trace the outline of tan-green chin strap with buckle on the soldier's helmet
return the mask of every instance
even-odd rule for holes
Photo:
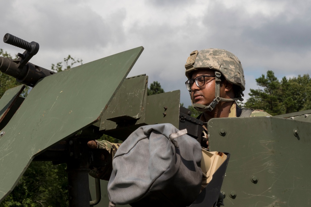
[[[230,101],[239,100],[239,98],[221,98],[220,97],[220,82],[221,82],[220,76],[221,76],[221,73],[218,71],[215,71],[215,98],[214,100],[208,106],[205,106],[203,104],[192,104],[195,110],[200,111],[200,112],[212,111],[213,109],[215,109],[216,105],[219,102],[230,102]]]

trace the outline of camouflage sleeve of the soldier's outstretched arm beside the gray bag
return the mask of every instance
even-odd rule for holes
[[[111,172],[112,172],[112,160],[114,159],[114,155],[116,154],[117,149],[119,148],[121,144],[111,143],[106,140],[102,140],[102,141],[95,140],[95,142],[97,143],[97,148],[106,149],[110,153],[111,160],[109,164],[106,166],[98,167],[98,168],[94,167],[93,169],[91,169],[89,174],[93,178],[109,180]]]

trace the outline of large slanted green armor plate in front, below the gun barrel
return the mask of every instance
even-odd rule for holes
[[[36,84],[0,137],[0,202],[35,155],[99,120],[142,50],[108,56]]]

